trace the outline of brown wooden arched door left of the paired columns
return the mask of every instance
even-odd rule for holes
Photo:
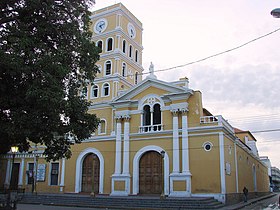
[[[99,193],[100,161],[96,154],[88,154],[82,167],[82,192]]]

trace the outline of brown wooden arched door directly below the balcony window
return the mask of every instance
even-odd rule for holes
[[[139,163],[139,193],[161,194],[163,189],[163,159],[158,152],[146,152]]]

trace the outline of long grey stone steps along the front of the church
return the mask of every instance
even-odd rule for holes
[[[166,198],[155,197],[90,197],[85,195],[67,194],[26,194],[20,203],[80,206],[99,208],[122,208],[122,209],[218,209],[224,205],[214,198]]]

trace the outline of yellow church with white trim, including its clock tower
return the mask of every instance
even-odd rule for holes
[[[25,192],[106,196],[214,197],[226,203],[269,192],[256,139],[202,104],[189,79],[158,80],[151,63],[143,79],[142,23],[121,3],[92,13],[92,41],[102,50],[100,73],[83,91],[98,129],[72,157],[46,162],[44,146],[1,158],[0,184]],[[13,167],[13,174],[11,174]],[[36,179],[34,180],[33,177]],[[35,184],[34,184],[35,183]]]

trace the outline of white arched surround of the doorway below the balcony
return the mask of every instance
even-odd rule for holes
[[[139,162],[142,155],[148,151],[156,151],[160,153],[165,150],[159,146],[150,145],[141,148],[135,154],[133,158],[133,195],[137,195],[139,193]],[[164,194],[169,195],[169,156],[166,151],[164,155]]]

